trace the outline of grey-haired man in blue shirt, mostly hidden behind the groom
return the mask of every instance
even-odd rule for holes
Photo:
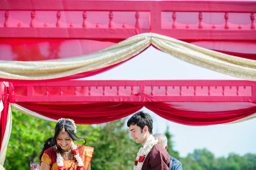
[[[158,139],[158,144],[167,150],[168,148],[167,137],[162,133],[155,133],[153,136],[155,137],[155,139]],[[182,170],[181,162],[178,159],[172,157],[171,155],[170,157],[171,157],[170,170]]]

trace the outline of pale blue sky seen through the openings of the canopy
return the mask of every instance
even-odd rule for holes
[[[131,69],[132,68],[132,69]],[[171,73],[171,74],[170,74]],[[128,62],[83,80],[242,80],[201,68],[149,47]],[[256,154],[256,119],[236,124],[187,126],[165,120],[143,108],[153,117],[153,133],[164,133],[169,126],[174,149],[185,157],[194,149],[207,148],[216,157],[233,152]],[[128,116],[130,117],[130,116]]]

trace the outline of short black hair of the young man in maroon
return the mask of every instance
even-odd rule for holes
[[[127,126],[130,127],[130,125],[137,125],[142,129],[144,126],[148,127],[148,131],[150,134],[152,134],[152,129],[153,129],[153,120],[149,116],[149,114],[144,113],[143,111],[138,111],[132,117],[128,120]]]

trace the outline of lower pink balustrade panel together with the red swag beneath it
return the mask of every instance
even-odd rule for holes
[[[10,83],[9,100],[40,115],[95,124],[143,106],[186,125],[228,123],[256,112],[254,81],[63,81]]]

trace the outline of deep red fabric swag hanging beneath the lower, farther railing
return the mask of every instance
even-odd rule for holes
[[[162,102],[19,102],[17,104],[52,119],[67,117],[78,124],[97,124],[117,120],[135,113],[143,106],[167,120],[196,126],[228,123],[256,112],[256,106],[226,111],[189,111]]]

